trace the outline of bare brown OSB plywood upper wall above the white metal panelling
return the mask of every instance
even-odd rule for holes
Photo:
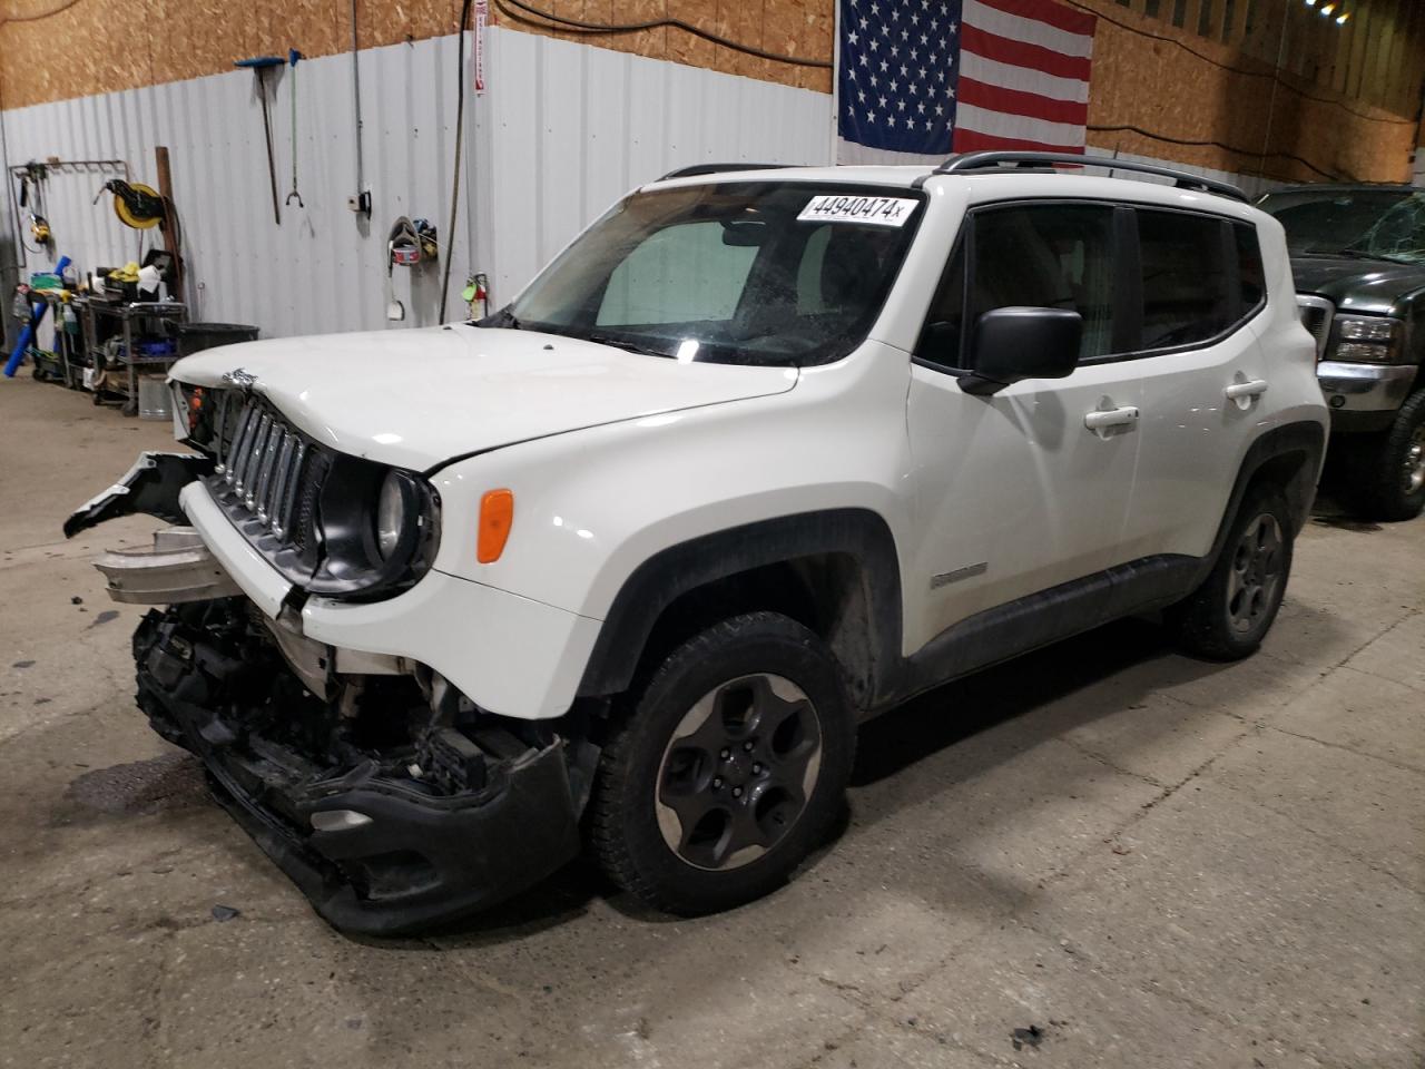
[[[1416,114],[1292,76],[1277,78],[1270,64],[1240,48],[1117,0],[1072,3],[1103,16],[1092,144],[1291,181],[1408,177]],[[47,11],[56,13],[36,17]],[[361,47],[452,33],[459,11],[459,0],[358,0]],[[537,11],[587,26],[554,29]],[[0,26],[6,108],[211,74],[229,70],[235,58],[289,47],[325,56],[351,44],[349,0],[0,0],[0,14],[7,16]],[[490,0],[490,19],[694,67],[831,88],[834,0]],[[593,29],[650,23],[617,33]]]

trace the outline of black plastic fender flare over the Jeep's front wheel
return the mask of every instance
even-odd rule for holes
[[[869,509],[826,509],[712,532],[654,553],[624,580],[598,630],[579,684],[580,697],[627,690],[663,611],[698,587],[799,557],[849,557],[861,577],[866,633],[861,666],[871,701],[901,663],[901,564],[885,519]]]

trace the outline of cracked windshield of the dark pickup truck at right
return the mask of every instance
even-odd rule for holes
[[[1357,254],[1425,262],[1425,194],[1411,190],[1324,190],[1268,194],[1260,202],[1287,229],[1294,254]]]

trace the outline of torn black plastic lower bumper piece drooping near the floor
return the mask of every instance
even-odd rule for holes
[[[188,700],[222,654],[161,620],[151,613],[135,634],[140,707],[202,760],[217,800],[333,926],[402,935],[449,924],[579,852],[563,743],[492,760],[479,785],[453,794],[375,760],[323,773],[258,735],[241,707]]]

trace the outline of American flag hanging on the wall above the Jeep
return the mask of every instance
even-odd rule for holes
[[[1053,0],[838,0],[842,162],[1083,148],[1094,17]]]

